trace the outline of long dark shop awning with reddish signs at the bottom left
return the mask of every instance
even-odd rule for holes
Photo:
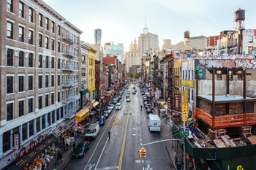
[[[23,157],[20,157],[16,159],[13,163],[10,163],[10,166],[4,167],[4,170],[18,170],[23,169],[24,166],[26,166],[28,163],[34,160],[34,158],[37,157],[41,152],[45,150],[50,144],[52,144],[55,141],[56,137],[53,134],[50,134],[48,138],[43,140],[40,144],[37,144],[36,147],[34,147],[32,150],[29,150],[29,152],[26,153],[26,155],[23,155]]]

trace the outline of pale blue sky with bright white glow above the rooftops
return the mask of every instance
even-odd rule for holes
[[[94,29],[102,29],[105,42],[123,43],[124,50],[143,33],[143,27],[172,44],[190,36],[214,36],[232,30],[234,12],[246,10],[245,28],[256,28],[255,0],[44,0],[83,31],[81,40],[94,43]]]

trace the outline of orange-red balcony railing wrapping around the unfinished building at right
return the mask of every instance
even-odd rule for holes
[[[256,124],[256,113],[222,115],[213,117],[209,113],[204,112],[202,109],[197,108],[195,116],[206,122],[212,128],[228,128]]]

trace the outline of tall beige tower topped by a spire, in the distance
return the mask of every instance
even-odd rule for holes
[[[140,54],[147,54],[149,50],[151,52],[157,52],[159,50],[159,41],[157,34],[151,34],[148,32],[148,28],[143,28],[143,34],[139,37]]]

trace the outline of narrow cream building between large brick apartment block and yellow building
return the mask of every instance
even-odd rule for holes
[[[80,42],[80,108],[89,101],[89,51],[91,48],[85,42]]]

